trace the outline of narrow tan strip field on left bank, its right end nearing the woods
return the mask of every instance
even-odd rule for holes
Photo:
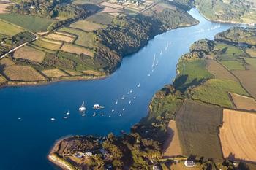
[[[88,50],[84,47],[79,47],[79,46],[76,46],[76,45],[70,45],[70,44],[64,44],[62,47],[61,47],[61,50],[65,51],[65,52],[68,52],[68,53],[75,53],[75,54],[84,54],[84,55],[89,55],[91,57],[93,57],[93,53],[91,52],[91,50]]]

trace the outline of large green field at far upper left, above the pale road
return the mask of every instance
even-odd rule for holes
[[[40,18],[32,15],[20,15],[16,13],[0,14],[0,19],[14,23],[17,26],[34,32],[46,31],[48,26],[54,22],[54,20],[48,18]]]

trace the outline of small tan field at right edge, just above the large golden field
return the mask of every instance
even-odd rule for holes
[[[236,106],[236,109],[246,109],[246,110],[256,111],[256,101],[254,98],[241,96],[236,93],[230,93],[230,96],[233,100],[233,103]]]

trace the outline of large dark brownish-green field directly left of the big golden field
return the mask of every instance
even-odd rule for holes
[[[178,137],[183,155],[213,158],[222,161],[218,127],[222,123],[222,108],[185,100],[176,115]]]

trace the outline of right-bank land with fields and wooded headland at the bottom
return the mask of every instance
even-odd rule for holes
[[[255,169],[255,36],[230,28],[195,42],[129,134],[72,136],[49,156],[70,169]]]

